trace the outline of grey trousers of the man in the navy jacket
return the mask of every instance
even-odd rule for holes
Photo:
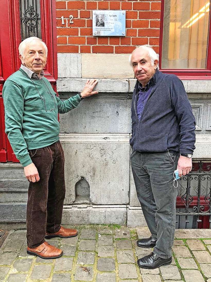
[[[138,199],[153,239],[154,253],[170,258],[174,243],[176,197],[173,173],[178,157],[170,152],[139,153],[132,150],[131,168]]]

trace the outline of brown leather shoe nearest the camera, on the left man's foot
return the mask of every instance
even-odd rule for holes
[[[26,252],[28,255],[38,255],[42,259],[57,259],[63,252],[54,246],[51,246],[47,242],[42,243],[36,248],[27,247]]]

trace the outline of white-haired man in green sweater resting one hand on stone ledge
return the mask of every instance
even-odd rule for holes
[[[61,226],[65,197],[64,151],[59,141],[58,113],[67,113],[80,101],[97,94],[97,80],[87,80],[83,91],[61,101],[44,78],[48,49],[36,37],[19,45],[20,69],[3,87],[5,132],[29,181],[26,211],[27,253],[57,258],[62,250],[45,238],[69,238],[77,230]]]

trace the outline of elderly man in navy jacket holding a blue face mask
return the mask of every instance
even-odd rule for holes
[[[195,118],[182,81],[163,74],[151,47],[133,51],[130,62],[137,79],[132,98],[131,167],[138,199],[151,237],[137,241],[153,252],[138,260],[154,269],[172,262],[179,177],[192,169]]]

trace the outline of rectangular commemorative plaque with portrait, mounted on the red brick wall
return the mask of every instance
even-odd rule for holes
[[[125,36],[125,15],[124,10],[94,10],[93,36]]]

